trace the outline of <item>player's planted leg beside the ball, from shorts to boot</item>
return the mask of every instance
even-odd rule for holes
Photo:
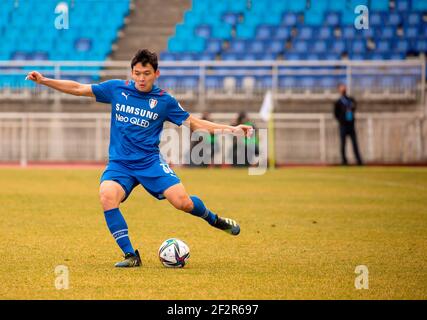
[[[141,265],[138,250],[134,250],[129,238],[128,226],[119,206],[135,185],[132,177],[123,172],[105,170],[99,187],[99,199],[104,210],[105,221],[117,245],[123,251],[125,260],[116,267],[136,267]]]

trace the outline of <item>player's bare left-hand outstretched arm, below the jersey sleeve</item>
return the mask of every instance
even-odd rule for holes
[[[50,79],[44,77],[37,71],[31,71],[28,73],[26,79],[75,96],[95,97],[90,84],[81,84],[71,80]]]

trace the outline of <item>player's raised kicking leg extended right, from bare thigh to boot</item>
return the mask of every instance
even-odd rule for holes
[[[240,226],[229,218],[221,218],[206,208],[203,201],[197,196],[189,196],[182,183],[167,188],[163,195],[178,210],[191,213],[206,220],[211,226],[221,229],[229,234],[238,235]]]

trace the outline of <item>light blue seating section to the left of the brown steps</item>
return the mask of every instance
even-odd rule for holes
[[[129,13],[129,0],[121,1],[61,1],[68,4],[72,28],[59,29],[46,25],[55,22],[58,1],[15,1],[1,3],[0,60],[10,61],[103,61],[112,52],[117,32]],[[104,23],[113,10],[114,16]],[[25,69],[25,67],[24,67]],[[65,70],[75,69],[64,67]],[[82,69],[81,67],[79,68]],[[97,71],[99,67],[83,67]],[[44,68],[53,72],[53,68]],[[99,81],[98,74],[69,76],[69,79],[89,83]],[[21,74],[1,75],[1,87],[33,87]]]

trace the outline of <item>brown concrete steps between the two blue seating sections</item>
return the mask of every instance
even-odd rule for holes
[[[182,20],[191,0],[135,0],[133,9],[113,53],[112,60],[130,60],[140,48],[160,53],[167,47],[175,25]]]

